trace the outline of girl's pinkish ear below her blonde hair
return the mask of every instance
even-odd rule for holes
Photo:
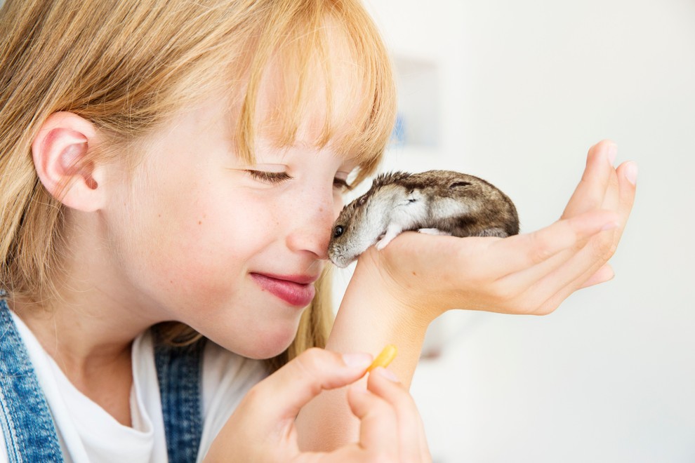
[[[97,145],[93,124],[70,112],[56,112],[32,143],[34,167],[49,193],[69,208],[93,212],[104,204],[98,168],[86,162]]]

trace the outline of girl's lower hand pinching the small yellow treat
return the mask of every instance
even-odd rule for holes
[[[364,375],[368,354],[309,349],[256,384],[220,431],[206,462],[428,462],[420,416],[408,392],[377,368],[367,388],[352,387],[348,403],[360,421],[359,442],[333,452],[301,452],[295,418],[324,389]],[[313,424],[323,429],[322,423]]]

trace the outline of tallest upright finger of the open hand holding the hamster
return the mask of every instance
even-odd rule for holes
[[[613,161],[616,152],[617,147],[610,140],[603,140],[589,149],[581,181],[569,199],[562,218],[601,207],[609,176],[614,172]]]

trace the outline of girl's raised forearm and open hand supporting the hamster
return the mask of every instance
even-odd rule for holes
[[[615,156],[609,140],[591,147],[562,217],[538,231],[506,239],[409,232],[383,250],[370,248],[357,262],[327,348],[376,354],[396,344],[390,369],[409,385],[425,331],[444,311],[549,314],[574,291],[609,281],[607,261],[628,220],[637,177],[634,163],[614,168]],[[323,394],[305,408],[313,421],[324,414],[326,434],[334,437],[307,438],[307,448],[331,448],[355,436],[354,422],[352,431],[343,427],[351,418],[338,394]]]

